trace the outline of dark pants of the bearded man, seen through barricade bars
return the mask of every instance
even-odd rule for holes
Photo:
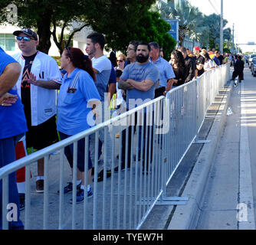
[[[149,116],[149,115],[148,115]],[[153,119],[153,116],[152,116]],[[128,167],[130,167],[131,162],[131,149],[133,147],[132,142],[132,131],[136,132],[136,125],[138,123],[137,120],[137,113],[135,115],[135,125],[129,126],[126,130],[128,130],[128,158],[127,163]],[[140,120],[141,121],[141,120]],[[141,122],[139,122],[141,124]],[[133,130],[132,130],[133,127]],[[126,156],[126,130],[122,131],[122,168],[125,166],[125,156]],[[147,142],[146,142],[146,130],[147,130]],[[150,132],[151,131],[151,132]],[[142,139],[142,132],[143,132],[143,139]],[[150,140],[150,133],[151,133],[151,140]],[[145,159],[147,159],[146,164],[148,165],[149,162],[153,160],[153,123],[150,123],[149,126],[146,125],[146,113],[144,113],[144,123],[143,126],[139,126],[139,132],[137,132],[137,140],[139,140],[139,158],[141,154],[141,150],[143,150],[143,165],[145,164]],[[149,150],[150,147],[150,150]],[[150,159],[149,159],[149,152],[150,152]]]

